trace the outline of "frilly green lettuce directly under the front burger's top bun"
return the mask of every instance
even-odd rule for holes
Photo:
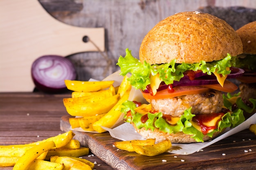
[[[148,64],[144,61],[141,63],[137,58],[133,57],[131,51],[126,49],[126,56],[120,56],[117,65],[120,67],[120,75],[126,75],[131,73],[130,84],[136,89],[145,90],[146,86],[150,84],[150,74],[156,75],[159,73],[159,78],[165,82],[165,84],[173,84],[173,81],[180,81],[184,77],[184,72],[188,70],[198,71],[202,70],[203,73],[211,75],[218,69],[217,73],[223,76],[229,74],[231,71],[227,71],[227,67],[235,66],[236,57],[231,57],[227,54],[222,60],[193,64],[177,64],[176,60],[172,60],[170,63],[164,64]]]

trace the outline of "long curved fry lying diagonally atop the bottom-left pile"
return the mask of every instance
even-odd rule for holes
[[[33,146],[22,155],[13,166],[13,170],[26,170],[31,162],[47,150],[54,148],[54,141],[45,141]]]

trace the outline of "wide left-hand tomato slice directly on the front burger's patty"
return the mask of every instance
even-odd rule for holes
[[[200,94],[209,91],[209,88],[204,86],[176,86],[173,87],[173,89],[173,93],[168,93],[167,89],[165,89],[162,91],[158,91],[154,96],[150,95],[150,93],[144,92],[142,92],[142,95],[145,99],[166,99],[182,95]]]

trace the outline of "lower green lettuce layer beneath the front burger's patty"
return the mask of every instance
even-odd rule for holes
[[[188,135],[192,135],[191,137],[195,139],[197,142],[204,142],[203,137],[204,135],[202,132],[194,128],[190,121],[192,121],[192,118],[195,116],[191,113],[191,108],[184,110],[184,115],[180,117],[180,119],[177,121],[176,125],[170,125],[163,119],[163,114],[161,112],[159,113],[148,113],[148,120],[145,123],[141,122],[141,117],[143,116],[140,113],[137,113],[134,109],[136,108],[136,105],[131,101],[126,101],[123,103],[124,107],[121,109],[121,112],[126,113],[129,110],[131,111],[132,117],[127,117],[125,114],[124,120],[129,123],[135,124],[137,128],[146,128],[146,130],[154,130],[155,128],[158,128],[159,130],[163,132],[168,133],[177,133],[177,132],[183,132]],[[243,121],[245,121],[245,117],[243,115],[243,111],[238,109],[236,112],[230,114],[226,113],[222,120],[218,123],[218,128],[213,130],[212,132],[207,133],[209,137],[213,136],[213,133],[222,131],[225,128],[234,128],[235,126],[241,124]]]

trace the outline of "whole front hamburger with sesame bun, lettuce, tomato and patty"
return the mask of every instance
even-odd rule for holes
[[[243,53],[236,31],[207,14],[182,12],[151,29],[139,49],[139,60],[126,49],[119,57],[120,75],[130,73],[130,84],[148,103],[124,102],[124,121],[144,138],[157,142],[203,142],[245,120],[243,111],[223,108],[222,92],[238,87],[228,78],[243,70],[234,67]]]

